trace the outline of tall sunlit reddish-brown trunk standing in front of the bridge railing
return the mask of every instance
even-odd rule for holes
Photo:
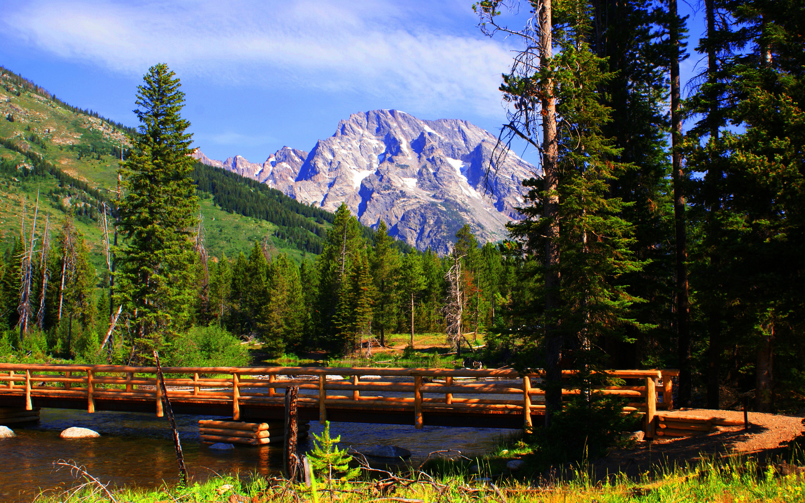
[[[553,56],[553,15],[551,0],[544,0],[539,11],[539,53],[540,66],[551,67]],[[555,320],[559,308],[559,150],[556,144],[556,99],[553,95],[553,80],[542,83],[543,113],[543,216],[547,219],[545,242],[545,311],[548,317],[545,330],[545,426],[550,426],[551,415],[562,410],[562,371],[559,360],[562,357],[562,336]]]

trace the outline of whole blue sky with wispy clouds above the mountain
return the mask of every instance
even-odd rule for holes
[[[472,3],[3,0],[0,64],[136,126],[142,74],[167,63],[182,80],[195,144],[213,159],[309,150],[339,120],[370,109],[497,133],[506,117],[497,85],[518,46],[482,35]],[[695,47],[703,14],[691,5],[680,9],[693,14]],[[683,79],[697,60],[683,64]]]

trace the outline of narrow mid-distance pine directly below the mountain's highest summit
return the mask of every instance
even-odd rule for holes
[[[394,324],[397,316],[397,284],[399,274],[399,254],[392,248],[394,238],[390,237],[386,222],[380,221],[374,235],[374,247],[369,261],[376,298],[374,299],[374,318],[372,324],[380,332],[380,345],[386,346],[386,330]]]

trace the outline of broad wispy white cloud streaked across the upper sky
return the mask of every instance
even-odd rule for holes
[[[500,116],[509,47],[473,28],[469,4],[456,5],[34,1],[6,4],[0,31],[124,74],[163,61],[183,76],[393,97],[419,113]],[[455,21],[428,24],[429,8],[452,9],[434,19]]]

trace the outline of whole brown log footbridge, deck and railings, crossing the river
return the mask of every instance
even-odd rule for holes
[[[154,412],[163,414],[155,367],[0,364],[0,407]],[[280,419],[284,389],[299,386],[299,418],[351,423],[520,428],[545,414],[539,372],[512,369],[390,369],[334,367],[163,367],[176,414]],[[564,371],[570,377],[572,371]],[[630,381],[592,390],[627,397],[624,410],[673,408],[677,370],[611,370]],[[658,387],[659,386],[659,387]],[[578,394],[578,390],[563,390]]]

